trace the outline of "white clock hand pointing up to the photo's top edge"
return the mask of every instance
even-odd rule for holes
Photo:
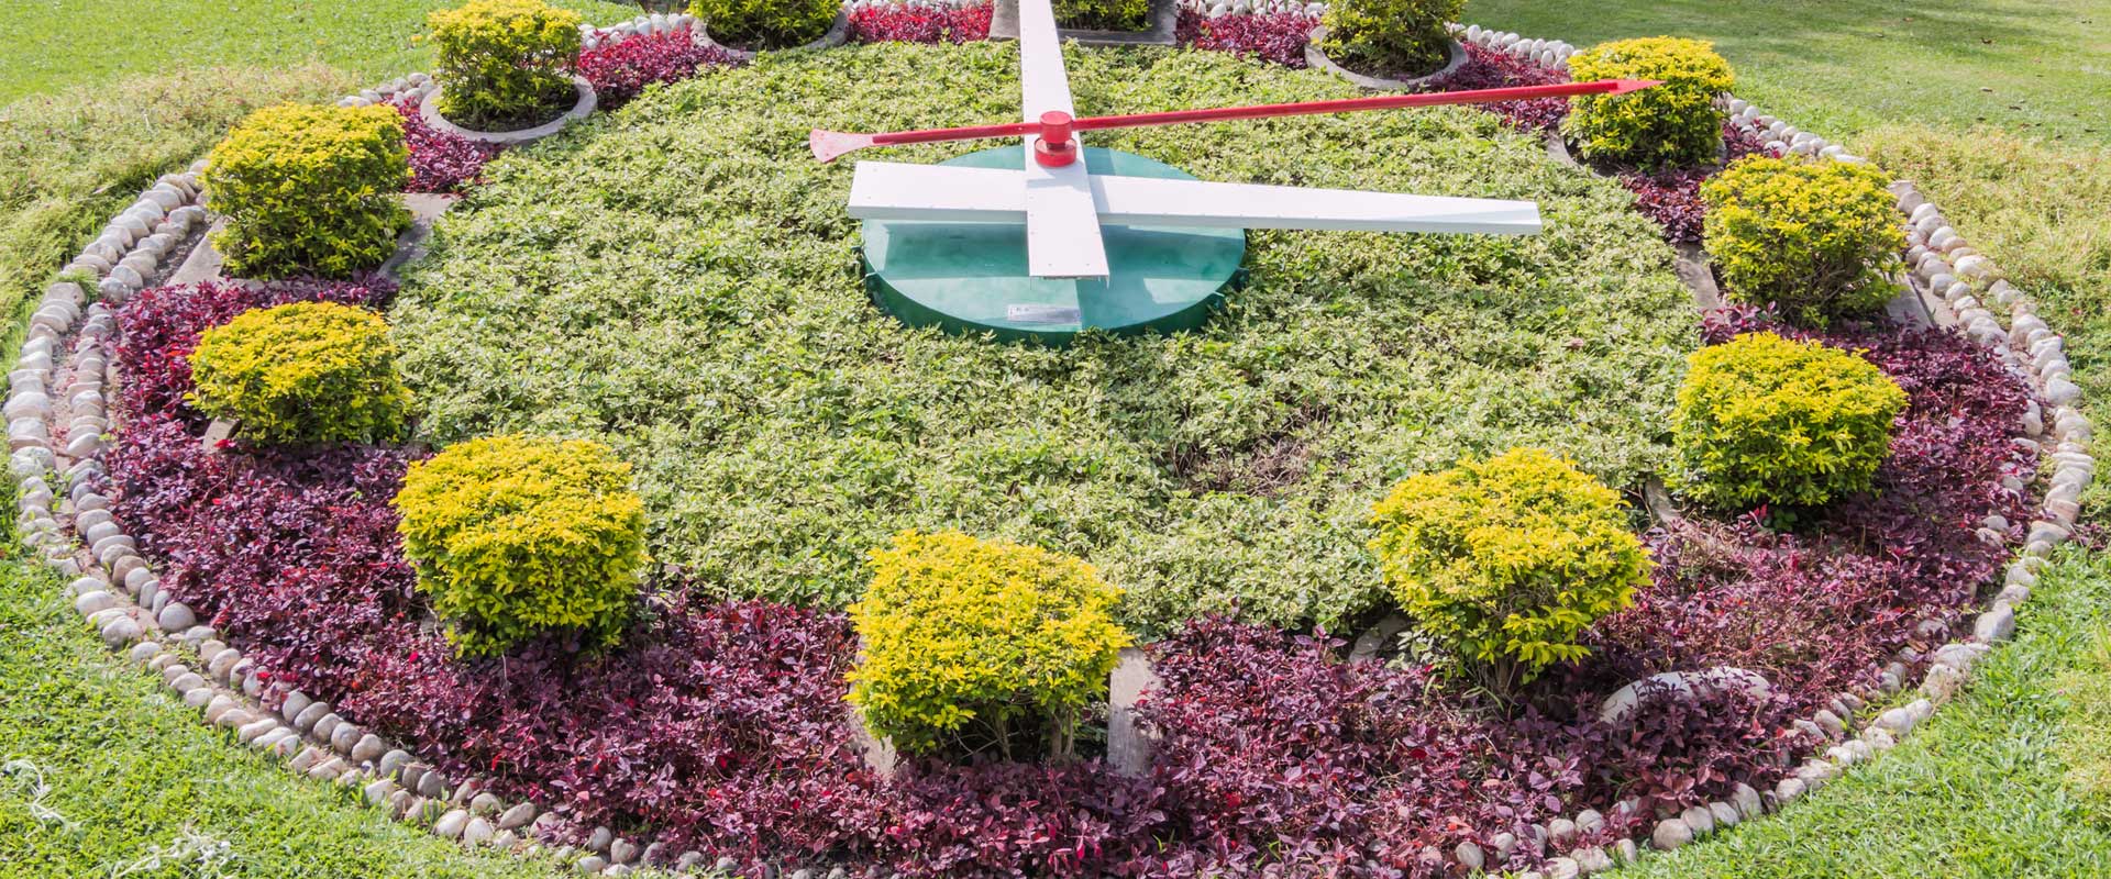
[[[1039,122],[1051,110],[1077,116],[1049,0],[1020,0],[1020,93],[1026,122]],[[1049,169],[1034,162],[1039,141],[1026,137],[1020,152],[1026,162],[1026,270],[1041,278],[1104,278],[1106,245],[1091,204],[1085,148],[1079,143],[1077,162]]]

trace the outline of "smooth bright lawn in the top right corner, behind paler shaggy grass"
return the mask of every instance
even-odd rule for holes
[[[1923,120],[2111,143],[2103,0],[1469,0],[1463,19],[1579,46],[1714,40],[1742,97],[1828,139]]]

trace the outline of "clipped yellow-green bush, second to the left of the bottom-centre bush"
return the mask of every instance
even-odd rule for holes
[[[296,301],[207,329],[190,354],[190,403],[258,443],[384,443],[403,436],[410,390],[388,323],[363,308]]]

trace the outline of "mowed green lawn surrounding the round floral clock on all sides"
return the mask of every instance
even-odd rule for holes
[[[156,173],[260,103],[420,70],[448,0],[17,0],[0,25],[0,314]],[[589,21],[635,6],[574,2]],[[2111,350],[2111,4],[2103,0],[1471,2],[1467,21],[1590,44],[1716,40],[1739,93],[1910,175],[2073,331]],[[211,70],[205,67],[224,67]],[[1915,124],[1902,124],[1915,122]],[[1989,150],[1970,129],[2003,133]],[[6,339],[19,339],[8,327]],[[13,344],[6,344],[13,352]],[[11,489],[0,489],[0,500]],[[2103,497],[2098,489],[2092,497]],[[2098,516],[2100,502],[2092,504]],[[1997,651],[1906,744],[1782,816],[1628,875],[2111,875],[2111,561],[2071,552]],[[2107,687],[2094,687],[2107,689]],[[201,727],[103,651],[63,584],[0,561],[0,877],[543,875],[464,856]]]

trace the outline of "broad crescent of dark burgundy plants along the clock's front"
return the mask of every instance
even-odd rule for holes
[[[1659,559],[1594,656],[1514,712],[1435,668],[1345,664],[1324,634],[1197,620],[1155,647],[1165,685],[1142,706],[1163,742],[1150,778],[1066,767],[908,763],[893,780],[849,746],[840,613],[703,603],[661,575],[648,613],[602,658],[562,641],[456,662],[429,620],[388,500],[418,451],[201,447],[184,405],[196,335],[296,299],[380,306],[380,282],[152,289],[120,310],[116,516],[163,586],[274,683],[412,748],[450,778],[553,807],[568,833],[650,828],[676,849],[745,864],[842,862],[885,875],[1438,875],[1461,841],[1526,841],[1596,807],[1596,837],[1655,809],[1765,788],[1815,742],[1790,721],[1929,649],[1970,616],[2005,548],[1986,514],[2024,521],[2008,443],[2027,386],[1946,331],[1845,327],[1910,394],[1879,489],[1803,521],[1752,510],[1647,535]],[[1737,310],[1708,341],[1777,329]],[[1773,529],[1763,527],[1761,523]],[[2012,531],[2010,538],[2016,538]],[[1611,689],[1661,670],[1737,666],[1767,698],[1647,700],[1606,725]],[[1634,805],[1615,809],[1632,799]]]

